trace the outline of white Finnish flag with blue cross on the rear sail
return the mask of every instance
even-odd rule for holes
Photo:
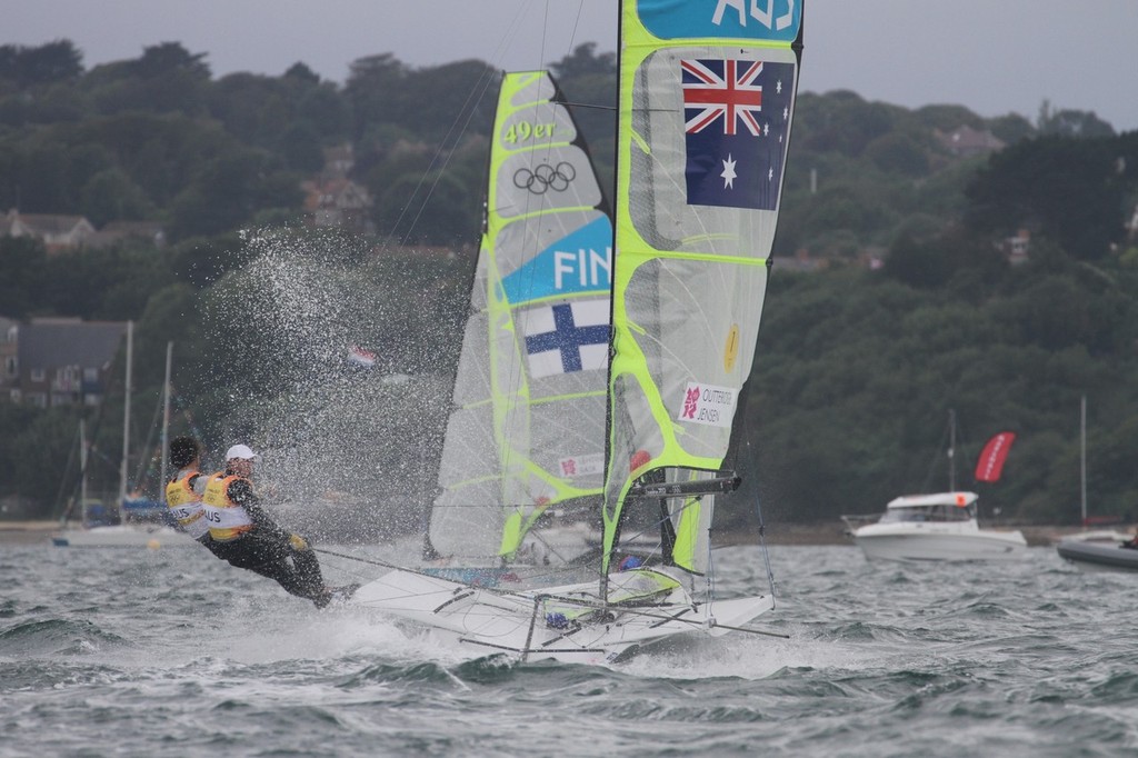
[[[609,299],[528,308],[521,315],[529,376],[589,371],[609,365]]]

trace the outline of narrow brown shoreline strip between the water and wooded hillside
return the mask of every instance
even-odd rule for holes
[[[38,542],[50,543],[52,533],[65,525],[58,521],[0,521],[0,544],[31,545]],[[67,525],[73,526],[73,525]],[[992,527],[1000,530],[1019,529],[1028,541],[1028,546],[1050,546],[1063,537],[1085,532],[1079,526],[1007,526]],[[1133,528],[1118,525],[1116,532],[1130,534]],[[764,541],[768,545],[853,545],[847,534],[846,525],[832,521],[817,524],[767,524]],[[716,539],[716,544],[747,544],[756,539]]]

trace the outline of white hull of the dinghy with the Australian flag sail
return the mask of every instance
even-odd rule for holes
[[[610,596],[661,576],[673,578],[662,570],[613,574]],[[696,604],[682,587],[673,587],[635,604],[597,610],[596,582],[501,592],[405,570],[364,585],[351,603],[412,621],[487,654],[577,664],[615,662],[678,634],[718,636],[774,607],[767,595]]]

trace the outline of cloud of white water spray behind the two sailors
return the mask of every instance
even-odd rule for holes
[[[341,233],[245,236],[204,303],[217,447],[247,442],[289,525],[338,542],[414,532],[434,499],[464,263]],[[376,354],[362,368],[354,346]]]

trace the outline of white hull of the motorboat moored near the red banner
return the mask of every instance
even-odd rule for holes
[[[1019,560],[1028,542],[1020,532],[980,529],[964,524],[874,524],[853,533],[871,560],[992,561]]]

